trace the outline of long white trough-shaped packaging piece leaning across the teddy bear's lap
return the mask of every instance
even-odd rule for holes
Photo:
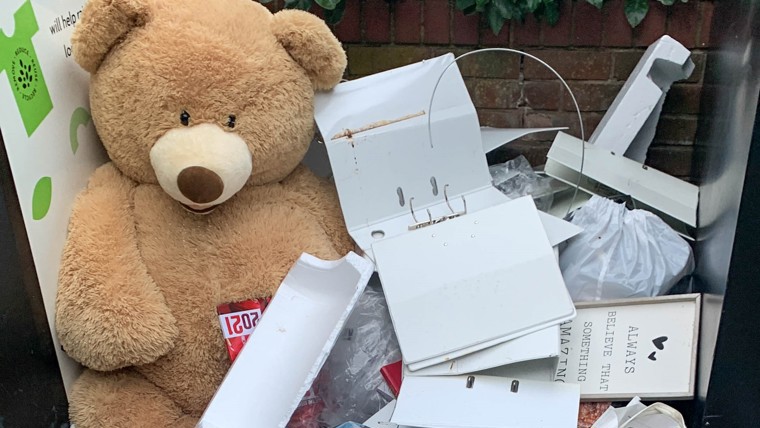
[[[354,253],[337,261],[303,254],[197,426],[285,427],[372,272],[372,264]]]

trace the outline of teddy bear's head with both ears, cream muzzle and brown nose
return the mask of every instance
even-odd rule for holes
[[[72,43],[113,163],[199,213],[291,173],[346,66],[319,18],[252,0],[91,0]]]

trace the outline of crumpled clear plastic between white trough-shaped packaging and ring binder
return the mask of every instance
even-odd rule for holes
[[[401,359],[388,305],[377,276],[356,303],[315,385],[325,408],[320,422],[364,421],[393,395],[380,368]]]

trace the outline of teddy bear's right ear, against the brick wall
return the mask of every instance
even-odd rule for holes
[[[317,90],[331,89],[346,69],[346,53],[324,21],[301,10],[274,14],[273,32],[290,56],[309,75]]]

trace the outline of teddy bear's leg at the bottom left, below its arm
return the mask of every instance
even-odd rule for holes
[[[140,374],[86,370],[74,383],[69,416],[77,428],[191,428],[184,412]]]

